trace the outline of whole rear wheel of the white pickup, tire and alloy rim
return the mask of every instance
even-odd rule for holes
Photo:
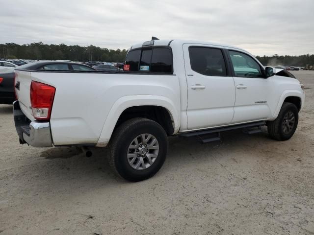
[[[141,181],[155,175],[168,151],[168,138],[155,121],[132,118],[122,123],[109,142],[109,164],[128,181]]]

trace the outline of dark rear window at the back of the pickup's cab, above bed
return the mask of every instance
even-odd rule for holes
[[[170,48],[156,47],[130,51],[126,58],[129,71],[172,73],[173,62]]]

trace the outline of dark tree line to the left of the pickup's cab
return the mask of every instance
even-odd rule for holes
[[[42,42],[18,45],[15,43],[0,44],[0,58],[31,60],[72,60],[72,61],[105,61],[123,62],[126,49],[108,49],[90,45],[67,46],[65,44],[48,45]]]

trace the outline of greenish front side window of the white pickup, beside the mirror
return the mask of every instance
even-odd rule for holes
[[[237,77],[263,77],[261,66],[249,55],[238,51],[229,51]]]

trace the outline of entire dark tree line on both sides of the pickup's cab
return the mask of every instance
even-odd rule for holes
[[[65,44],[48,45],[42,42],[18,45],[15,43],[0,44],[0,58],[6,59],[36,59],[36,60],[61,60],[72,61],[105,61],[123,62],[127,54],[126,49],[108,49],[90,45],[81,47],[78,45],[67,46]],[[306,66],[314,65],[314,54],[306,55],[277,55],[256,56],[264,66]]]

